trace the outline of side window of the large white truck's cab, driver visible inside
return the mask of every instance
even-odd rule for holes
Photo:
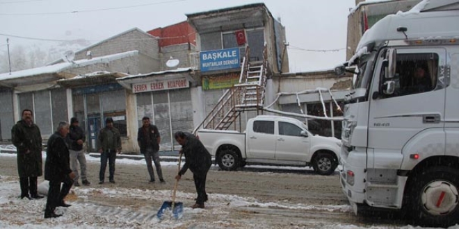
[[[385,97],[404,96],[429,92],[437,86],[437,69],[439,57],[437,53],[398,53],[396,56],[396,73],[394,78],[384,78],[381,71],[383,87],[386,81],[394,81],[394,94]],[[380,88],[382,91],[383,88]]]

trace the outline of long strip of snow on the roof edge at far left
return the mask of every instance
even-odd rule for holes
[[[64,62],[64,63],[59,63],[56,65],[49,65],[45,67],[35,67],[34,69],[14,71],[11,74],[9,73],[0,74],[0,80],[9,80],[12,78],[22,78],[22,77],[28,77],[28,76],[38,76],[42,74],[54,74],[54,73],[63,71],[65,69],[85,67],[88,65],[94,65],[97,63],[101,63],[101,62],[108,63],[113,60],[119,60],[122,58],[127,58],[130,56],[136,56],[136,55],[138,55],[138,51],[134,50],[134,51],[127,51],[124,53],[116,53],[116,54],[108,55],[108,56],[101,56],[98,58],[92,58],[90,60],[87,60],[87,59],[75,60],[74,62]]]

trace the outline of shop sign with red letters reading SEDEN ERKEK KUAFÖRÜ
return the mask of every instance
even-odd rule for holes
[[[186,78],[175,78],[171,80],[155,80],[152,82],[135,83],[132,85],[132,92],[154,92],[185,87],[190,87],[190,83],[186,80]]]

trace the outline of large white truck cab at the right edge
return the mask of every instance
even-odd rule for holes
[[[341,187],[355,213],[459,223],[459,1],[421,1],[374,24],[345,65]],[[349,71],[337,67],[337,74]]]

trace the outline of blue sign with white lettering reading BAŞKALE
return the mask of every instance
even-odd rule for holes
[[[239,48],[200,52],[201,72],[241,67]]]

